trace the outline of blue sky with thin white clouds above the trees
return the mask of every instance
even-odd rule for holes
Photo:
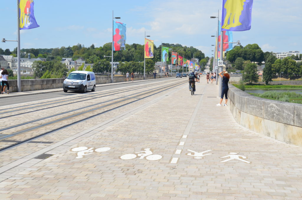
[[[57,48],[81,43],[102,46],[112,40],[114,17],[127,24],[127,44],[143,44],[144,32],[158,46],[161,42],[193,46],[211,56],[215,44],[221,0],[34,0],[40,27],[21,30],[21,48]],[[243,46],[257,43],[263,51],[300,51],[302,14],[300,0],[254,0],[252,28],[233,32],[233,40]],[[17,5],[1,1],[0,38],[15,40]],[[15,42],[0,42],[11,51]]]

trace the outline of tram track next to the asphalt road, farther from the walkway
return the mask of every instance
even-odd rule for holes
[[[168,81],[168,83],[169,82],[175,82],[175,80]],[[165,82],[165,83],[167,83],[167,82]],[[152,84],[149,84],[149,85],[137,86],[137,87],[129,88],[129,89],[126,89],[126,90],[124,90],[122,92],[117,92],[117,93],[114,93],[114,92],[110,91],[110,92],[105,92],[103,94],[94,94],[94,95],[91,96],[92,98],[89,98],[89,97],[80,97],[78,99],[83,99],[83,98],[89,98],[89,99],[74,101],[74,102],[65,103],[65,104],[61,104],[61,105],[57,105],[57,106],[51,106],[51,107],[47,107],[47,108],[42,108],[42,109],[37,109],[37,110],[32,110],[32,111],[27,111],[27,112],[22,112],[22,113],[17,113],[17,114],[13,114],[13,115],[7,115],[7,116],[0,117],[0,119],[4,119],[4,118],[8,118],[8,117],[13,117],[13,116],[17,116],[17,115],[22,115],[22,114],[27,114],[27,113],[36,112],[36,111],[45,110],[45,109],[51,109],[51,108],[55,108],[55,107],[59,107],[59,106],[70,105],[72,103],[80,103],[80,102],[87,101],[87,100],[94,100],[94,99],[98,99],[98,98],[102,98],[102,97],[108,97],[108,96],[111,96],[111,95],[114,95],[114,94],[121,94],[121,93],[129,92],[129,91],[133,91],[133,90],[137,90],[137,89],[141,89],[141,88],[152,87],[154,85],[159,85],[159,84],[161,84],[161,83],[156,83],[156,84],[152,83]],[[104,94],[108,94],[108,95],[104,95]],[[99,95],[104,95],[104,96],[99,96]],[[72,98],[69,98],[69,99],[72,99]],[[53,104],[57,104],[57,103],[63,103],[63,102],[66,102],[66,101],[69,101],[69,100],[64,100],[64,101],[50,103],[50,104],[43,104],[43,105],[39,105],[39,106],[28,107],[28,108],[25,108],[25,109],[34,109],[34,108],[38,108],[38,107],[41,107],[41,106],[53,105]],[[11,111],[2,112],[2,113],[0,113],[0,115],[4,114],[4,113],[9,113],[9,112],[17,112],[17,111],[20,111],[20,110],[24,110],[24,108],[23,109],[18,109],[18,110],[11,110]]]

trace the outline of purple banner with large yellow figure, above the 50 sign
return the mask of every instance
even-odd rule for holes
[[[222,0],[221,31],[251,29],[253,0]]]

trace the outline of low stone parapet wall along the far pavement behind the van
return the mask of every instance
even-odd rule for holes
[[[146,79],[152,79],[153,75],[146,75]],[[159,78],[159,76],[156,76]],[[114,83],[126,81],[125,76],[114,76]],[[135,75],[134,80],[143,80],[143,75]],[[21,80],[21,91],[31,91],[31,90],[46,90],[54,88],[63,88],[63,81],[65,78],[45,78],[45,79],[22,79]],[[131,78],[129,78],[131,81]],[[96,84],[111,83],[111,76],[96,76]],[[17,92],[17,80],[8,80],[9,91]]]

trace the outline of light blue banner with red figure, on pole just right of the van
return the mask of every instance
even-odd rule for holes
[[[113,21],[113,51],[125,50],[126,45],[126,24]]]

